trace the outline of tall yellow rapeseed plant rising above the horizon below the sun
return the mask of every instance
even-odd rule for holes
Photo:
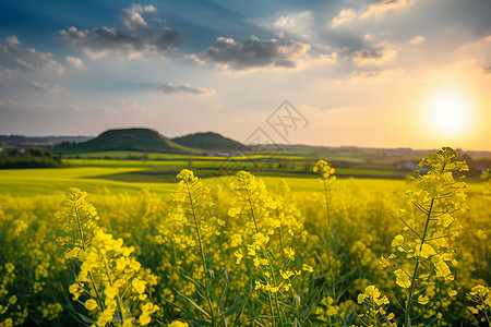
[[[462,232],[456,213],[465,211],[466,184],[463,178],[455,179],[454,171],[468,170],[465,161],[455,161],[458,154],[444,147],[421,160],[428,173],[411,178],[414,189],[406,192],[407,203],[416,209],[397,208],[395,217],[404,223],[404,234],[397,234],[392,246],[394,252],[380,263],[395,275],[395,281],[407,295],[405,325],[411,322],[412,299],[417,295],[421,305],[434,304],[442,296],[454,296],[451,287],[445,293],[430,294],[438,281],[454,280],[451,266],[457,266],[454,242]],[[432,295],[432,296],[430,296]],[[441,301],[440,301],[441,303]]]

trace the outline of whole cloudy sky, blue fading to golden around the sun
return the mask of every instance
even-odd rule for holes
[[[491,150],[491,1],[0,2],[0,134]]]

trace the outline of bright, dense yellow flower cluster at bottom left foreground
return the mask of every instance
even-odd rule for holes
[[[73,300],[85,294],[85,308],[94,313],[95,326],[121,322],[129,326],[135,320],[141,326],[151,322],[149,315],[158,306],[148,301],[147,291],[157,283],[153,275],[142,276],[141,264],[131,255],[134,247],[123,246],[121,239],[96,232],[91,246],[81,252],[82,263],[75,282],[69,291]],[[142,271],[144,272],[144,271]]]

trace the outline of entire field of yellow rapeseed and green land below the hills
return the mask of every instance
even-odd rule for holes
[[[0,326],[490,324],[489,174],[455,179],[448,148],[412,180],[375,155],[319,157],[0,170]]]

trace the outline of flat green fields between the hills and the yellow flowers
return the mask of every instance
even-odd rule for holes
[[[235,157],[220,154],[96,152],[64,156],[63,161],[69,168],[0,170],[0,194],[62,194],[69,186],[89,193],[109,190],[112,193],[135,194],[146,189],[168,194],[176,187],[176,174],[183,168],[193,170],[209,185],[218,182],[221,186],[228,186],[231,174],[248,170],[264,179],[267,186],[274,186],[284,179],[292,191],[309,192],[319,187],[313,179],[312,164],[320,158],[333,162],[338,177],[337,185],[351,185],[355,178],[356,184],[369,192],[402,189],[408,172],[397,170],[396,164],[411,159],[388,155],[381,149],[299,148]],[[477,177],[471,177],[468,183],[471,192],[482,192]]]

